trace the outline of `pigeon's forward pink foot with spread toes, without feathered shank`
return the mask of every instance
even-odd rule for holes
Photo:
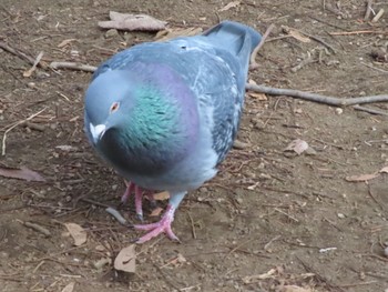
[[[145,235],[141,236],[136,243],[144,243],[152,238],[157,236],[161,233],[166,233],[166,235],[174,241],[180,241],[180,239],[174,234],[171,229],[171,223],[174,221],[175,208],[171,204],[167,205],[166,212],[162,217],[161,221],[151,224],[134,225],[134,229],[150,231]]]

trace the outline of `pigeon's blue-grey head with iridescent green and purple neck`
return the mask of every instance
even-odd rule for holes
[[[192,92],[171,70],[151,69],[105,71],[86,90],[89,140],[121,169],[161,169],[155,161],[180,160],[197,140]]]

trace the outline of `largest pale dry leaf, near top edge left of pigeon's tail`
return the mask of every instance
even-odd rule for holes
[[[167,22],[147,14],[129,14],[110,11],[110,21],[99,21],[103,29],[159,31],[165,29]]]

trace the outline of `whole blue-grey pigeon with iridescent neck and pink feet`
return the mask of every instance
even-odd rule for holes
[[[202,34],[145,42],[103,62],[85,92],[84,128],[96,153],[122,175],[136,211],[142,190],[170,193],[161,220],[135,224],[143,243],[172,231],[188,191],[214,178],[236,138],[249,57],[262,36],[223,21]],[[152,198],[152,195],[151,195]]]

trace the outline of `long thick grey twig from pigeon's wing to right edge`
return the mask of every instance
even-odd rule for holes
[[[339,99],[334,97],[325,97],[317,93],[304,92],[300,90],[278,89],[278,88],[269,88],[269,87],[254,85],[254,84],[246,84],[246,89],[255,92],[272,94],[272,95],[288,95],[292,98],[297,98],[297,99],[303,99],[303,100],[308,100],[308,101],[314,101],[314,102],[336,105],[336,107],[346,107],[346,105],[354,105],[359,103],[388,101],[388,94],[351,98],[351,99]]]

